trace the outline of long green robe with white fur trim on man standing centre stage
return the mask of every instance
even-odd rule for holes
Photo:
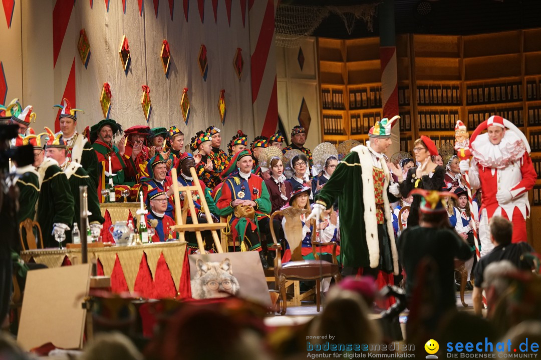
[[[356,146],[342,160],[327,181],[325,186],[315,196],[315,202],[330,208],[338,198],[340,214],[340,255],[345,267],[380,266],[380,253],[392,256],[389,261],[398,274],[398,252],[392,229],[391,210],[389,202],[397,201],[388,193],[390,175],[385,160],[380,160],[386,180],[384,182],[385,214],[384,248],[380,249],[378,240],[378,225],[375,220],[374,184],[372,175],[372,155],[364,145]],[[363,172],[362,169],[365,169]],[[371,204],[374,205],[371,205]],[[366,213],[365,213],[366,210]]]

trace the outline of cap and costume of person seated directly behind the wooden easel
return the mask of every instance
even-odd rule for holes
[[[179,177],[177,178],[177,180],[180,182],[180,184],[182,186],[195,186],[195,181],[192,178],[192,176],[189,176],[189,175],[184,174],[182,172],[182,167],[181,167],[182,163],[184,162],[184,160],[187,160],[187,159],[193,159],[192,154],[183,153],[181,155],[180,162],[179,162]],[[210,213],[214,214],[214,215],[219,214],[219,210],[216,207],[216,203],[215,203],[214,199],[212,198],[212,195],[210,194],[210,190],[208,189],[208,187],[206,187],[204,185],[203,181],[201,181],[199,179],[197,179],[197,181],[199,181],[199,185],[201,186],[201,189],[203,190],[204,198],[207,201],[207,206],[208,206],[208,209],[209,209]],[[186,200],[193,201],[194,208],[195,208],[195,216],[197,216],[197,222],[206,223],[207,218],[206,218],[206,216],[204,216],[204,209],[203,209],[203,207],[201,205],[200,196],[193,192],[191,199],[182,198],[181,199],[181,206],[182,207],[184,206],[184,201],[186,201]],[[193,221],[192,221],[192,213],[189,210],[189,208],[188,208],[188,216],[186,218],[186,223],[189,223],[189,224],[193,223]],[[186,232],[186,235],[187,235],[186,240],[188,241],[188,253],[192,254],[197,249],[199,249],[199,246],[197,245],[197,240],[196,240],[196,237],[195,237],[195,233],[194,232]],[[205,249],[206,250],[212,249],[213,245],[214,245],[214,239],[213,239],[213,236],[212,236],[212,233],[210,232],[210,230],[205,230],[205,231],[201,232],[201,237],[203,238]]]

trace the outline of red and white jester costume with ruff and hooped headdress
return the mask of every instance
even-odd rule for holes
[[[498,145],[490,142],[487,133],[478,135],[470,144],[470,185],[483,190],[479,222],[481,256],[494,248],[489,227],[492,216],[500,215],[513,223],[513,243],[526,241],[525,220],[530,216],[527,192],[537,179],[530,158],[530,145],[524,134],[498,116],[487,120],[487,127],[490,126],[508,127],[510,130],[505,132]]]

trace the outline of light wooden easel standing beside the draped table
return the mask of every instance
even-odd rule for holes
[[[195,232],[195,238],[197,239],[197,246],[199,247],[199,252],[201,254],[204,254],[204,247],[203,247],[203,238],[201,237],[201,232],[204,230],[210,230],[212,233],[212,237],[214,239],[214,244],[216,246],[216,250],[218,253],[223,253],[222,244],[220,243],[220,238],[218,237],[218,234],[216,234],[215,230],[222,230],[225,229],[227,226],[227,223],[223,222],[213,222],[212,218],[210,217],[210,210],[208,209],[207,199],[204,197],[203,189],[201,188],[201,184],[199,184],[199,178],[197,178],[197,173],[195,172],[194,167],[190,167],[190,174],[192,175],[192,178],[194,179],[195,186],[179,186],[177,174],[176,174],[176,168],[171,169],[171,179],[173,180],[173,190],[174,190],[174,198],[175,198],[175,221],[176,225],[171,226],[171,230],[175,230],[180,233],[180,240],[184,240],[184,232],[185,231],[193,231]],[[186,196],[184,196],[184,206],[180,206],[180,195],[179,192],[186,192]],[[194,202],[192,200],[192,194],[199,195],[199,200],[201,201],[201,206],[204,210],[204,214],[207,218],[207,223],[200,224],[199,221],[197,221],[197,215],[195,215],[195,206]],[[192,224],[186,223],[186,218],[188,216],[188,209],[190,210],[190,215],[192,216]]]

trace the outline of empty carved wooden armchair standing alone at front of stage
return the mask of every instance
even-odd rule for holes
[[[274,277],[275,284],[280,291],[281,297],[281,315],[286,314],[287,298],[286,298],[286,281],[287,280],[315,280],[315,298],[316,308],[319,311],[321,303],[320,283],[322,279],[334,277],[336,282],[341,280],[340,271],[338,270],[338,261],[336,256],[336,243],[333,243],[333,262],[319,260],[316,247],[327,245],[315,241],[315,230],[312,231],[312,254],[315,260],[305,260],[301,254],[302,244],[302,222],[300,216],[302,214],[310,214],[309,210],[288,207],[283,210],[275,211],[271,216],[271,223],[275,216],[283,215],[286,218],[286,224],[283,228],[287,237],[287,243],[291,250],[291,261],[282,265],[281,260],[281,245],[276,240],[274,227],[271,226],[271,235],[273,240],[273,249],[276,251],[274,259]],[[312,220],[313,229],[315,229],[315,219]]]

